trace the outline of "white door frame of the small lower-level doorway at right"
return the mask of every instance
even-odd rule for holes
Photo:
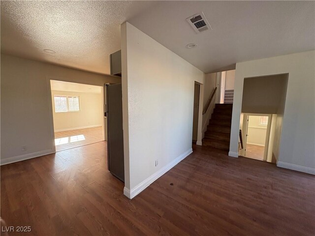
[[[263,155],[263,161],[267,160],[267,150],[269,145],[269,136],[270,136],[270,123],[271,123],[271,117],[272,114],[259,114],[259,113],[244,113],[243,118],[243,149],[241,150],[241,155],[246,156],[246,146],[247,146],[247,131],[248,131],[248,120],[249,116],[256,116],[256,117],[268,117],[268,123],[267,123],[267,129],[266,129],[266,138],[265,138],[265,147],[264,147],[264,155]]]

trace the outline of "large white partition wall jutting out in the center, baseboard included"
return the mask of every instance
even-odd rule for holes
[[[124,194],[132,198],[191,153],[194,81],[203,84],[204,73],[129,23],[121,38]]]

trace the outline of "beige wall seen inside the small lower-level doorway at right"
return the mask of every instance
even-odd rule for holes
[[[247,143],[265,146],[267,125],[259,123],[260,116],[250,116],[247,130]]]

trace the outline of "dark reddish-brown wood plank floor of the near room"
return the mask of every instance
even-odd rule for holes
[[[315,235],[314,176],[193,150],[132,200],[106,142],[1,166],[1,217],[32,227],[9,236]]]

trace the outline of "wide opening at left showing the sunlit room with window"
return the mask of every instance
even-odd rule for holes
[[[102,87],[50,80],[55,148],[105,140]]]

